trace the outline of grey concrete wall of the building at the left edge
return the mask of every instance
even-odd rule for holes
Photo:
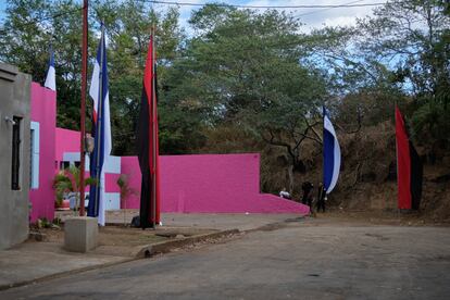
[[[29,122],[32,77],[0,63],[0,249],[20,243],[28,235]],[[11,188],[12,124],[5,117],[20,116],[20,189]]]

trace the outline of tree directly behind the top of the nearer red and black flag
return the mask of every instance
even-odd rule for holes
[[[171,148],[170,123],[174,116],[167,108],[164,86],[167,70],[179,55],[184,33],[179,28],[177,9],[164,14],[133,0],[100,2],[95,7],[98,18],[108,28],[111,123],[115,154],[135,154],[135,132],[142,91],[142,76],[151,28],[155,29],[159,82],[160,149],[162,153],[176,152]],[[179,126],[179,125],[178,125]],[[186,128],[185,124],[182,124]],[[170,130],[170,132],[167,132]],[[176,148],[176,147],[175,147]]]

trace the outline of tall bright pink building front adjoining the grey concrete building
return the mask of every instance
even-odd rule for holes
[[[38,217],[53,220],[54,141],[57,126],[57,93],[32,84],[32,121],[39,123],[39,186],[30,189],[32,222]]]

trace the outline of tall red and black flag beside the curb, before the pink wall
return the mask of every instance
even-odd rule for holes
[[[157,64],[154,39],[150,36],[143,72],[142,97],[137,125],[137,149],[142,183],[140,189],[140,226],[154,227],[160,223],[160,176],[157,108]]]

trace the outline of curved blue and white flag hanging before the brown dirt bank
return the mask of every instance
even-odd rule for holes
[[[340,148],[335,128],[324,107],[324,188],[330,193],[339,177]]]

